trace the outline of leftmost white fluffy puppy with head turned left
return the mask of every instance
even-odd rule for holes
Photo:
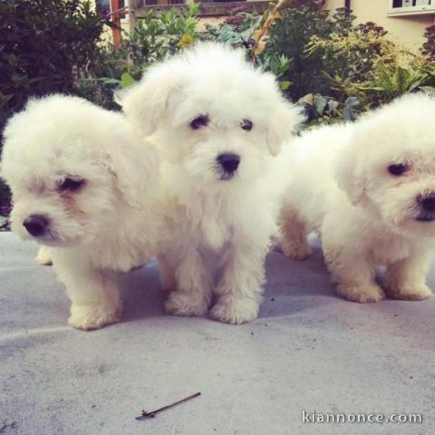
[[[118,322],[115,271],[140,266],[164,235],[157,150],[121,114],[64,95],[30,101],[8,121],[2,176],[12,229],[49,248],[72,301],[69,324]]]

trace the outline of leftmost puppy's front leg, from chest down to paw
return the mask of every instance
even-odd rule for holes
[[[116,275],[93,268],[82,252],[64,252],[62,248],[58,253],[60,250],[53,253],[53,260],[72,302],[68,324],[88,331],[120,322],[122,302]]]

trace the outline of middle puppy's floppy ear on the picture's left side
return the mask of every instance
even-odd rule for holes
[[[140,82],[115,93],[115,102],[140,134],[157,130],[169,106],[169,97],[183,82],[177,60],[157,64],[147,70]]]

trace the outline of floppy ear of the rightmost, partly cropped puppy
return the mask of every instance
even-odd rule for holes
[[[338,187],[346,193],[354,206],[365,196],[365,176],[358,164],[358,152],[350,137],[334,162],[334,173]]]

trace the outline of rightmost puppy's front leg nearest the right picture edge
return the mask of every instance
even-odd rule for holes
[[[412,255],[387,268],[383,286],[393,299],[421,301],[432,294],[426,285],[430,259],[427,254]]]

